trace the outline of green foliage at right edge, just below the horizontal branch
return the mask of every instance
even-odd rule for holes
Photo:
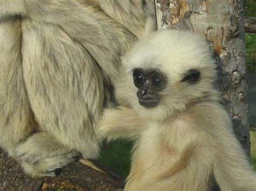
[[[256,34],[245,34],[246,61],[248,72],[256,72]]]

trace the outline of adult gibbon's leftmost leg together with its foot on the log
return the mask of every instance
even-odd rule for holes
[[[58,144],[48,133],[31,136],[36,124],[23,79],[21,22],[2,21],[0,34],[0,145],[26,173],[55,175],[55,169],[73,161],[77,153]]]

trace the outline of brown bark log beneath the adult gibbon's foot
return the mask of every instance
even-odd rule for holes
[[[55,178],[31,178],[0,149],[0,190],[122,190],[124,179],[97,161],[80,159]]]

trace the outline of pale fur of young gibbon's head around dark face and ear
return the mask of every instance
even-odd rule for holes
[[[213,70],[214,60],[207,43],[201,38],[186,31],[164,30],[157,33],[139,41],[123,57],[124,64],[120,72],[122,76],[129,77],[123,77],[122,80],[126,81],[117,84],[116,97],[120,103],[132,105],[142,117],[164,119],[174,110],[184,110],[192,98],[202,96],[201,91],[211,89],[211,83],[216,79],[216,71]],[[186,87],[179,81],[191,66],[193,69],[200,69],[201,81]],[[138,103],[137,88],[133,85],[131,72],[138,67],[158,68],[171,74],[167,79],[169,88],[161,93],[164,99],[156,108],[144,108]]]

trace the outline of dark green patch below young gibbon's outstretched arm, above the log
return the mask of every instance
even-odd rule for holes
[[[100,153],[98,160],[111,166],[126,178],[130,172],[132,145],[132,142],[112,142]]]

